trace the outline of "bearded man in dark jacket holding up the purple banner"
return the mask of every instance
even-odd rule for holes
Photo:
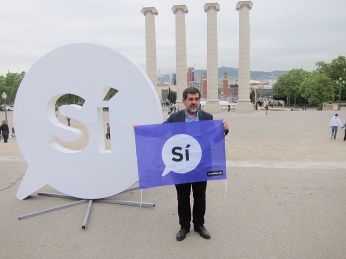
[[[191,122],[199,120],[212,120],[213,115],[199,109],[201,93],[195,87],[188,87],[183,91],[183,104],[185,109],[171,113],[167,118],[167,122]],[[225,135],[228,133],[228,123],[223,120],[222,123],[225,127]],[[210,233],[204,226],[204,214],[206,212],[206,189],[207,181],[190,182],[176,184],[178,195],[178,214],[181,229],[177,233],[177,240],[181,241],[190,232],[191,226],[191,206],[190,206],[190,193],[191,187],[194,196],[193,205],[193,224],[194,230],[199,232],[203,238],[209,239]]]

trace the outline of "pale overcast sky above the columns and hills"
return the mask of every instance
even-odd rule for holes
[[[28,72],[40,57],[72,43],[112,48],[145,71],[145,17],[154,6],[157,69],[176,71],[175,14],[186,4],[187,66],[207,68],[207,13],[201,0],[0,0],[0,75]],[[218,63],[238,68],[237,0],[219,0]],[[345,0],[252,0],[250,70],[313,70],[346,55]]]

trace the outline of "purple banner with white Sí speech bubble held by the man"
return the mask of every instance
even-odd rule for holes
[[[139,187],[226,179],[225,130],[221,121],[137,126]]]

